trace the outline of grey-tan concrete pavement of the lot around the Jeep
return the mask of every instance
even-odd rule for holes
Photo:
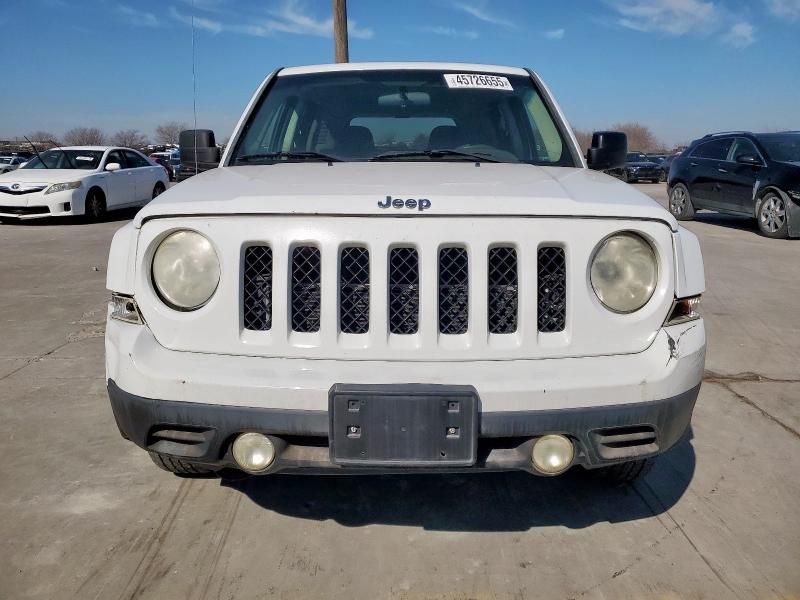
[[[632,487],[230,482],[160,471],[114,425],[104,280],[129,216],[0,225],[0,598],[800,597],[800,241],[687,225],[707,378],[692,435]]]

